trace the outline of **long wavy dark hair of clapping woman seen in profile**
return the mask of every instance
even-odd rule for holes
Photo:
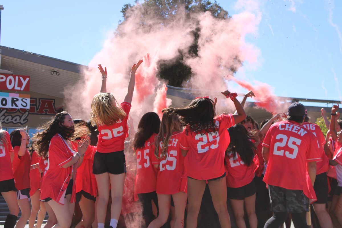
[[[62,125],[65,116],[68,114],[66,111],[57,113],[49,122],[40,126],[38,128],[39,132],[32,137],[32,146],[40,157],[44,159],[47,157],[50,140],[55,134],[60,134],[64,139],[70,139],[74,136],[74,128],[68,128]]]

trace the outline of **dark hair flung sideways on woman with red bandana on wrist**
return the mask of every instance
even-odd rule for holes
[[[181,125],[188,126],[196,134],[218,130],[214,123],[215,105],[210,98],[197,98],[184,108],[168,108],[166,110],[179,115]],[[188,134],[187,130],[186,134]]]

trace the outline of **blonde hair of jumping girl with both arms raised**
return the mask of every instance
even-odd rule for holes
[[[98,93],[91,103],[90,120],[93,126],[112,125],[126,117],[126,112],[119,106],[111,93]]]

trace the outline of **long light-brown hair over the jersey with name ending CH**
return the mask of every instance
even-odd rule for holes
[[[168,151],[169,139],[172,133],[175,131],[182,131],[181,123],[179,122],[178,115],[169,112],[167,109],[161,110],[163,112],[163,117],[160,123],[160,130],[155,140],[156,150],[154,154],[157,158],[159,155],[159,143],[161,144],[161,157],[165,157]]]

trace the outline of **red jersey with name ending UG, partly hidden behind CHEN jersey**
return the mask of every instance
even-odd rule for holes
[[[312,134],[314,134],[318,141],[318,148],[321,153],[322,161],[316,162],[316,170],[317,175],[321,173],[325,173],[329,170],[329,158],[326,156],[324,151],[324,145],[325,145],[325,136],[323,132],[321,131],[320,127],[315,123],[303,123],[302,125],[307,130],[311,131]]]

